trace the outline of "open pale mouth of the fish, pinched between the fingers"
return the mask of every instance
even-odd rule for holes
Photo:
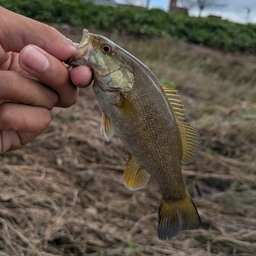
[[[86,65],[93,50],[91,46],[91,38],[92,34],[89,33],[87,29],[83,29],[83,36],[76,48],[76,52],[66,60],[65,63],[71,66]]]

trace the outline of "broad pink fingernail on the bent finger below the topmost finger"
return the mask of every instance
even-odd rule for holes
[[[38,73],[46,71],[50,65],[47,57],[34,46],[27,46],[25,49],[23,64]]]

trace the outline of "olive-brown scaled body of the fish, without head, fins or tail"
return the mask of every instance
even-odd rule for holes
[[[148,76],[136,72],[133,89],[122,94],[104,91],[96,82],[97,100],[126,149],[158,181],[163,197],[180,198],[185,196],[185,187],[178,127],[160,89]],[[133,106],[134,115],[115,106],[120,97]]]

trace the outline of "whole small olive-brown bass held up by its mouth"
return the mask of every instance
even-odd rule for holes
[[[198,229],[201,219],[186,190],[181,166],[195,159],[201,142],[186,121],[178,91],[162,85],[131,53],[86,29],[67,63],[92,70],[93,90],[102,109],[101,133],[107,141],[116,134],[129,152],[125,187],[139,190],[151,176],[159,184],[159,239]]]

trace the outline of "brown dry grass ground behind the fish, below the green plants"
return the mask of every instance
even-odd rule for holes
[[[81,28],[58,28],[79,40]],[[157,76],[175,84],[201,134],[196,161],[183,166],[201,228],[157,238],[159,187],[153,178],[136,192],[123,186],[127,152],[116,136],[106,142],[100,135],[101,110],[89,87],[74,106],[52,111],[41,136],[0,156],[0,256],[256,255],[256,57],[157,41],[178,47],[167,66],[170,58],[154,59],[141,47],[146,42],[155,39],[124,37],[123,44],[140,46],[136,56],[142,51]]]

